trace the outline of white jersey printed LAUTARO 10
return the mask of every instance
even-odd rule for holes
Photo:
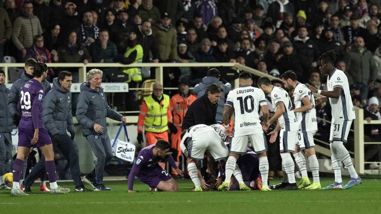
[[[240,86],[229,92],[225,105],[234,108],[234,137],[263,133],[258,110],[267,103],[262,90]]]

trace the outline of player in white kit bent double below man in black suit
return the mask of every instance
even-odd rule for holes
[[[184,130],[181,134],[180,148],[187,157],[188,173],[194,183],[193,191],[202,191],[207,189],[208,185],[201,176],[197,167],[197,160],[202,160],[206,150],[215,161],[226,160],[229,156],[229,150],[224,144],[224,127],[220,124],[205,125],[198,124]]]

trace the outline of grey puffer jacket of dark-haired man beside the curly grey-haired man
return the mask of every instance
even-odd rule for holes
[[[64,135],[74,130],[71,116],[71,92],[63,91],[58,78],[53,79],[53,89],[44,98],[42,116],[49,134]]]

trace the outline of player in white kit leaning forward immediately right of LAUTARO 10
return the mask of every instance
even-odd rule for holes
[[[258,87],[265,94],[271,95],[271,103],[275,112],[274,115],[263,124],[263,129],[267,130],[272,122],[278,120],[275,129],[268,133],[268,135],[271,135],[270,143],[275,142],[280,129],[280,156],[282,157],[282,167],[284,167],[286,174],[283,177],[283,182],[275,186],[275,189],[296,190],[298,187],[295,181],[295,164],[290,153],[293,153],[295,150],[299,124],[293,111],[290,97],[284,89],[272,86],[268,77],[260,77],[258,79]]]

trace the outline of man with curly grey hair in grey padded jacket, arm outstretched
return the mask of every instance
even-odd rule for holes
[[[103,72],[91,69],[86,74],[87,82],[80,86],[75,116],[82,125],[86,137],[97,157],[94,169],[84,176],[84,181],[94,187],[94,191],[111,190],[103,184],[105,164],[111,160],[113,153],[110,138],[107,134],[106,117],[127,123],[127,118],[113,110],[108,104],[101,87]]]

